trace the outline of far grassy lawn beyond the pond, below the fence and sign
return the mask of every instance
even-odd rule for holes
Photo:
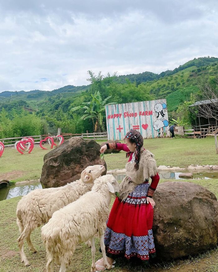
[[[98,141],[101,144],[101,141]],[[144,140],[144,147],[155,155],[157,165],[186,167],[190,164],[218,164],[213,137],[205,139],[158,138]],[[13,148],[5,148],[0,158],[0,179],[23,181],[38,179],[41,176],[44,155],[49,150],[36,146],[31,154],[21,155]],[[118,154],[104,156],[107,169],[125,168],[126,155]]]

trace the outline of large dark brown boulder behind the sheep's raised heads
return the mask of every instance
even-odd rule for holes
[[[89,165],[106,162],[100,159],[100,145],[94,140],[83,140],[78,137],[64,141],[44,156],[44,165],[40,182],[42,187],[59,187],[80,178],[80,174]]]

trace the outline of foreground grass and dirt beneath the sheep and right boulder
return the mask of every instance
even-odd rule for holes
[[[168,180],[161,180],[166,182]],[[169,180],[172,181],[172,180]],[[175,180],[174,180],[175,181]],[[188,181],[187,181],[188,182]],[[213,180],[193,180],[192,182],[200,184],[212,191],[218,197],[218,179]],[[25,252],[31,266],[24,267],[20,262],[20,256],[17,248],[17,238],[19,237],[16,225],[16,206],[21,197],[15,197],[9,200],[0,201],[0,272],[45,272],[46,253],[40,237],[40,228],[37,228],[32,234],[32,241],[37,249],[37,253],[33,254],[27,249],[25,243]],[[111,205],[114,199],[111,201]],[[158,203],[156,203],[158,205]],[[96,248],[99,248],[99,239],[96,236]],[[187,249],[188,250],[188,249]],[[96,251],[96,260],[101,257],[101,253]],[[91,268],[91,250],[81,244],[75,251],[74,258],[71,262],[68,272],[90,271]],[[118,259],[113,271],[147,271],[147,272],[163,272],[163,271],[181,271],[181,272],[216,272],[218,271],[218,247],[206,251],[201,255],[190,256],[181,260],[173,260],[172,262],[154,263],[148,269],[141,266],[135,267],[123,259]],[[59,266],[55,265],[55,272],[59,271]],[[112,270],[111,270],[112,271]]]

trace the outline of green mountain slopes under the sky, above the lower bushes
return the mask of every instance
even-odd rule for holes
[[[36,111],[40,117],[54,116],[60,111],[66,118],[72,118],[70,108],[90,100],[90,94],[99,89],[102,99],[112,96],[108,102],[129,103],[142,100],[166,98],[168,111],[175,111],[178,105],[197,91],[196,80],[203,74],[214,76],[218,71],[218,58],[197,58],[180,65],[174,70],[154,74],[143,72],[126,76],[106,77],[96,85],[67,85],[52,91],[32,90],[4,91],[0,93],[0,111],[4,108],[9,117],[12,110]],[[82,114],[83,111],[77,114]]]

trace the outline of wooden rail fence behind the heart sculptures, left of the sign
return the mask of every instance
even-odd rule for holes
[[[39,144],[41,140],[45,139],[48,136],[58,135],[58,134],[45,134],[45,135],[34,135],[34,136],[24,136],[24,137],[14,137],[14,138],[4,138],[0,141],[5,146],[13,146],[17,141],[20,141],[22,138],[32,137],[35,141],[35,144]],[[80,137],[84,140],[94,139],[94,140],[106,140],[107,141],[107,132],[100,133],[81,133],[81,134],[71,134],[71,133],[61,133],[64,137],[64,140],[68,140],[71,137]]]

